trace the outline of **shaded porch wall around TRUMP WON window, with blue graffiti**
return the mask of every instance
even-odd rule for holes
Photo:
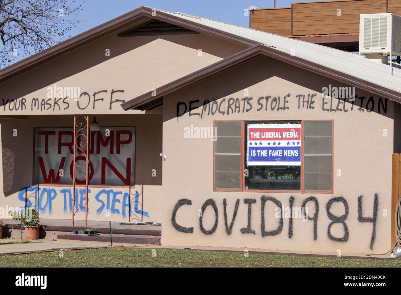
[[[160,222],[162,163],[159,154],[162,150],[162,115],[100,115],[97,120],[101,126],[136,127],[135,187],[89,187],[88,219]],[[40,218],[71,219],[72,186],[41,185],[37,192],[37,187],[32,186],[32,159],[34,128],[73,126],[73,116],[29,116],[26,120],[0,120],[0,126],[1,207],[16,208],[29,205],[29,202],[36,206],[38,197]],[[69,177],[69,165],[65,164],[65,177]],[[156,173],[152,176],[153,169]],[[129,194],[129,198],[124,197],[125,193]],[[85,205],[81,197],[76,199],[76,208],[79,205]],[[131,217],[127,205],[131,206]],[[84,210],[79,211],[75,218],[85,219]]]

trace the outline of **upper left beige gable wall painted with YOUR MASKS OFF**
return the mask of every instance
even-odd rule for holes
[[[243,49],[203,34],[118,38],[117,33],[0,83],[0,116],[140,113],[119,105]],[[78,102],[71,96],[49,98],[47,88],[54,85],[76,92],[79,87],[82,96]]]

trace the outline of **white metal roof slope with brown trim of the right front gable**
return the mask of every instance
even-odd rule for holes
[[[191,28],[189,25],[201,26],[203,29],[206,28],[206,31],[202,33],[209,35],[220,34],[215,37],[221,37],[252,47],[157,88],[156,96],[152,96],[154,92],[148,92],[129,100],[121,105],[124,110],[132,108],[147,110],[154,108],[156,105],[161,105],[160,98],[163,95],[258,55],[267,55],[401,102],[401,85],[399,83],[401,69],[397,67],[393,67],[393,75],[391,75],[389,65],[371,61],[353,53],[200,16],[157,9],[155,11],[156,14],[160,12],[166,16],[165,21],[174,22],[188,28]],[[152,101],[157,101],[158,104],[152,104]]]

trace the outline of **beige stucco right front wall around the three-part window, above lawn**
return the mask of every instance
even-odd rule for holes
[[[312,252],[385,252],[391,247],[391,155],[393,153],[393,102],[387,101],[387,110],[380,104],[379,98],[365,91],[356,89],[358,98],[354,105],[348,102],[337,105],[334,100],[330,106],[330,98],[323,105],[322,87],[349,86],[323,76],[310,73],[298,67],[279,62],[268,57],[259,57],[243,63],[218,75],[192,84],[182,90],[164,97],[163,102],[163,153],[167,161],[163,163],[163,196],[164,206],[168,214],[162,218],[164,245],[203,245],[229,247],[255,247],[264,249],[280,249]],[[245,94],[248,90],[249,94]],[[281,98],[283,106],[284,96],[287,98],[286,110],[271,110],[271,101],[274,97]],[[314,104],[308,108],[307,104],[298,106],[298,94],[308,98],[314,96]],[[249,97],[249,104],[241,98]],[[267,110],[265,99],[259,97],[271,96]],[[366,98],[361,100],[360,97]],[[368,104],[369,98],[373,96]],[[222,102],[223,99],[226,99]],[[227,114],[227,100],[239,98],[240,110],[232,110]],[[202,111],[205,100],[215,99],[221,104],[221,114],[215,111]],[[192,116],[186,112],[177,117],[177,103],[185,102]],[[362,108],[360,107],[362,102]],[[385,100],[381,102],[385,104]],[[374,107],[373,107],[374,103]],[[251,108],[252,106],[252,108]],[[273,105],[274,106],[274,105]],[[373,111],[371,111],[373,107]],[[330,111],[330,108],[332,109]],[[338,108],[338,110],[337,110]],[[341,110],[340,110],[341,109]],[[234,108],[233,108],[234,110]],[[345,112],[345,110],[347,110]],[[235,111],[235,110],[234,110]],[[197,115],[199,113],[202,115]],[[210,127],[213,120],[334,120],[334,191],[327,193],[263,193],[263,192],[220,192],[213,191],[213,142],[210,138],[184,138],[184,128]],[[387,132],[387,134],[386,134]],[[386,136],[387,135],[387,136]],[[360,207],[363,217],[373,217],[375,194],[378,196],[377,224],[374,237],[373,222],[358,221],[358,197],[362,197]],[[303,222],[301,218],[293,219],[293,235],[289,237],[290,219],[284,218],[282,231],[274,236],[261,234],[261,197],[274,197],[285,208],[289,207],[289,198],[294,197],[294,207],[301,207],[308,197],[316,197],[319,212],[316,227],[317,239],[314,240],[314,222]],[[342,223],[332,225],[328,237],[328,226],[332,222],[328,216],[326,206],[330,199],[344,197],[348,205],[348,214],[345,224],[348,229],[348,238],[340,241],[344,236]],[[248,205],[244,199],[255,199],[251,207],[252,233],[241,233],[241,228],[247,227]],[[183,227],[193,227],[193,233],[178,231],[172,225],[174,206],[179,199],[189,199],[192,205],[182,205],[176,212],[176,222]],[[200,229],[199,211],[207,199],[213,199],[218,209],[218,224],[211,234],[204,234]],[[227,234],[223,199],[227,202],[227,222],[230,225],[233,219],[235,202],[240,200],[237,216],[233,223],[232,233]],[[334,216],[345,214],[341,202],[332,202],[330,213]],[[308,215],[314,216],[314,202],[307,203]],[[271,201],[265,204],[265,231],[275,230],[279,219],[275,218],[274,205]],[[387,212],[387,214],[386,214]],[[284,213],[284,212],[283,212]],[[211,230],[215,224],[215,212],[212,206],[207,206],[203,213],[203,227]],[[371,250],[372,244],[372,250]]]

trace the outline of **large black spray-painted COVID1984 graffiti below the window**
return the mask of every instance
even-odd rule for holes
[[[375,237],[376,237],[376,223],[377,223],[377,212],[378,212],[378,208],[379,208],[379,196],[377,193],[375,193],[375,199],[373,202],[373,217],[363,217],[362,214],[362,198],[363,196],[358,197],[358,221],[359,222],[372,222],[373,223],[373,230],[372,230],[372,238],[371,238],[371,242],[370,242],[370,248],[373,249],[373,244],[375,243]],[[265,204],[267,201],[271,201],[276,205],[276,208],[279,209],[280,211],[280,218],[279,218],[279,225],[275,230],[271,230],[271,231],[266,231],[265,230]],[[302,211],[305,210],[306,204],[308,202],[314,202],[315,203],[315,214],[313,217],[311,216],[306,216],[306,218],[308,218],[308,220],[313,220],[313,239],[317,240],[318,235],[317,235],[317,227],[318,227],[318,214],[319,214],[319,202],[318,199],[316,199],[315,197],[308,197],[306,199],[304,199],[304,201],[302,202]],[[333,203],[335,202],[340,202],[344,205],[344,210],[345,213],[342,216],[335,216],[334,214],[332,214],[330,212],[331,206]],[[225,228],[226,228],[226,232],[227,235],[230,235],[232,233],[232,229],[233,229],[233,225],[235,222],[235,218],[237,216],[237,212],[238,212],[238,207],[239,207],[239,203],[240,200],[237,199],[235,202],[235,208],[234,208],[234,212],[233,212],[233,218],[231,220],[231,224],[230,226],[228,226],[228,221],[227,221],[227,201],[226,199],[223,199],[223,210],[224,210],[224,222],[225,222]],[[252,204],[256,203],[256,199],[244,199],[244,204],[248,205],[248,210],[247,210],[247,227],[246,228],[241,228],[241,233],[242,234],[255,234],[255,231],[251,229],[251,212],[252,212]],[[288,237],[292,238],[293,236],[293,227],[292,227],[292,219],[294,218],[293,214],[292,214],[292,208],[294,205],[294,197],[290,197],[289,198],[289,203],[290,203],[290,223],[289,223],[289,228],[288,228]],[[177,211],[178,209],[182,206],[182,205],[192,205],[192,201],[189,199],[180,199],[178,200],[178,202],[176,203],[176,205],[174,206],[173,212],[172,212],[172,217],[171,217],[171,222],[172,222],[172,226],[178,230],[179,232],[184,232],[184,233],[193,233],[194,232],[194,228],[190,227],[184,227],[181,226],[179,224],[177,224],[176,222],[176,215],[177,215]],[[211,205],[214,212],[215,212],[215,224],[213,225],[213,228],[211,228],[211,230],[206,230],[203,227],[203,218],[204,218],[204,213],[205,210],[207,208],[207,206]],[[262,196],[261,197],[261,236],[265,237],[265,236],[275,236],[278,235],[282,232],[283,230],[283,210],[282,210],[282,203],[275,199],[274,197],[266,197],[266,196]],[[344,197],[334,197],[332,199],[329,199],[328,202],[326,203],[326,213],[327,213],[327,217],[331,220],[330,224],[328,224],[327,227],[327,236],[330,240],[333,240],[335,242],[346,242],[348,241],[349,238],[349,231],[348,231],[348,226],[346,225],[346,219],[348,217],[348,203],[346,201],[346,199],[344,199]],[[202,233],[210,235],[213,234],[216,229],[217,229],[217,224],[219,221],[219,211],[217,209],[217,205],[216,202],[213,199],[208,199],[207,201],[205,201],[205,203],[203,203],[202,205],[202,214],[199,216],[199,228],[201,230]],[[337,238],[332,236],[330,229],[332,227],[333,224],[335,223],[341,223],[343,225],[344,228],[344,236],[341,238]]]

